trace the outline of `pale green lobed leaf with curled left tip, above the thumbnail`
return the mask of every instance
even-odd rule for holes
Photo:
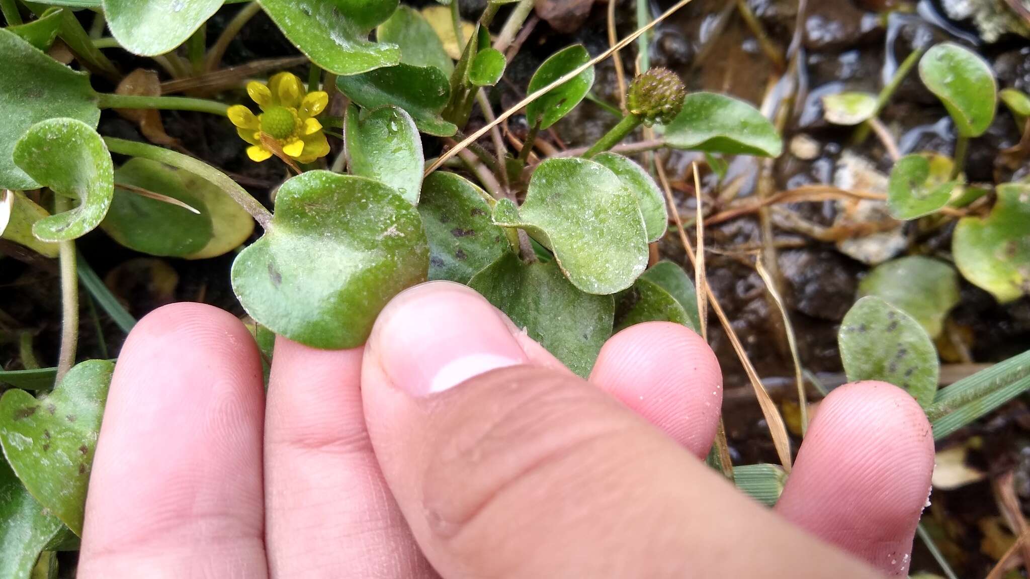
[[[647,234],[637,196],[593,161],[544,161],[529,179],[522,206],[497,201],[493,223],[529,232],[554,251],[573,285],[588,294],[625,290],[647,267]]]

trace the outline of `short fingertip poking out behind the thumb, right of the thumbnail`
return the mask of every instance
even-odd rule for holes
[[[722,371],[700,336],[667,321],[630,326],[600,349],[590,382],[611,393],[695,456],[712,448]]]

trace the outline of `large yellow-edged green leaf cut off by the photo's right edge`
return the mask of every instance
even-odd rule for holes
[[[962,277],[1011,302],[1030,294],[1030,184],[998,185],[998,201],[986,218],[962,217],[952,237]]]

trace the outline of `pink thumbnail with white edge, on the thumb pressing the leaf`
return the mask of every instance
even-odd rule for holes
[[[392,384],[415,397],[528,362],[493,306],[451,282],[425,283],[394,298],[368,347]]]

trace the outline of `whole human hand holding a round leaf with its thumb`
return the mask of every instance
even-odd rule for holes
[[[435,282],[364,348],[278,338],[266,403],[239,320],[167,306],[114,371],[78,577],[904,576],[933,466],[912,397],[835,389],[774,511],[700,459],[721,383],[665,322],[612,337],[583,381]]]

